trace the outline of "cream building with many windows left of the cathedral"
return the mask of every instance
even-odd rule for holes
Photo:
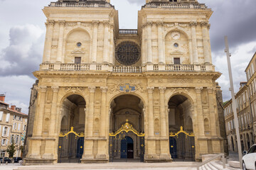
[[[12,142],[16,146],[14,157],[22,156],[28,115],[21,113],[21,108],[9,107],[4,103],[5,95],[0,94],[0,157],[9,157],[6,149]]]

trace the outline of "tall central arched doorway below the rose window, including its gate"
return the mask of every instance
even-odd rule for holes
[[[130,94],[118,96],[111,102],[110,162],[144,160],[144,136],[140,136],[144,133],[143,108],[143,101]]]

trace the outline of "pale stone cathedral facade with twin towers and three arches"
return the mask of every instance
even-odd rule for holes
[[[58,0],[43,8],[25,164],[223,153],[213,11],[196,0],[146,0],[138,29],[120,30],[110,3]]]

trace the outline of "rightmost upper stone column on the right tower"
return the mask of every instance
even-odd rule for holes
[[[210,64],[210,55],[209,55],[209,43],[208,43],[208,23],[202,22],[201,27],[203,30],[203,55],[205,58],[205,63]]]

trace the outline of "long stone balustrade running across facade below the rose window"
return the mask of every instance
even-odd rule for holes
[[[109,64],[41,64],[40,70],[47,71],[107,71],[117,73],[140,72],[215,72],[210,64],[154,64],[146,66],[111,66]]]

